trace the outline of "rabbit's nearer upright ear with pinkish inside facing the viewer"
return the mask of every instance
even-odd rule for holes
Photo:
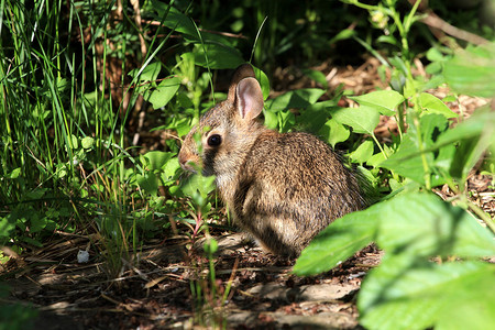
[[[244,78],[235,88],[235,106],[242,119],[252,120],[263,110],[263,92],[254,78]]]

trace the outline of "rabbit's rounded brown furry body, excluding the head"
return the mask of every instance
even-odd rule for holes
[[[268,251],[295,256],[334,219],[365,206],[359,183],[329,145],[307,133],[265,132],[228,204]]]

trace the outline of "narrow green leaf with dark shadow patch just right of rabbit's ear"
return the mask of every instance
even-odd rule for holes
[[[283,94],[274,99],[267,100],[265,108],[270,111],[279,111],[288,109],[306,108],[316,101],[324,94],[323,89],[318,88],[302,88],[292,90]]]

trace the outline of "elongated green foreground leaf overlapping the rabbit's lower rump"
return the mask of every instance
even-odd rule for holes
[[[372,206],[337,219],[302,251],[294,265],[294,273],[299,276],[315,275],[344,262],[372,242],[380,217]]]

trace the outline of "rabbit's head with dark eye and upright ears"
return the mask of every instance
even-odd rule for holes
[[[185,138],[178,155],[180,166],[216,175],[222,191],[257,135],[266,130],[256,119],[262,110],[260,84],[251,65],[244,64],[234,73],[227,100],[206,112]]]

